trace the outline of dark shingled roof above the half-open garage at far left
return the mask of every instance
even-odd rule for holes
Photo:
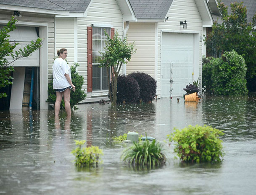
[[[56,5],[55,3],[49,0],[0,0],[0,4],[4,5],[16,5],[29,8],[40,8],[48,10],[61,10],[67,11],[61,5]]]

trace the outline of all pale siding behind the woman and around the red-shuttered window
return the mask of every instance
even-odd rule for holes
[[[87,17],[77,18],[77,62],[80,65],[78,73],[84,77],[82,88],[85,89],[86,93],[87,27],[92,26],[93,23],[109,25],[115,28],[119,36],[123,36],[123,15],[116,0],[92,0],[87,10]],[[66,47],[68,49],[67,60],[70,62],[69,65],[74,61],[74,24],[74,18],[56,18],[56,48]],[[66,30],[62,31],[64,29]],[[91,93],[88,93],[84,101],[98,101],[98,99],[91,99]]]

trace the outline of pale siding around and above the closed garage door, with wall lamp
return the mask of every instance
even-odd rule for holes
[[[162,31],[198,31],[199,37],[202,37],[202,19],[194,0],[174,0],[169,13],[169,19],[166,22],[158,23],[158,68],[157,68],[157,94],[160,94],[161,82],[161,32]],[[187,21],[187,29],[179,24],[180,21]],[[201,40],[200,40],[201,41]],[[199,44],[199,75],[200,83],[202,75],[202,44]]]

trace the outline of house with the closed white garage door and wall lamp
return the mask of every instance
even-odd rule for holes
[[[127,37],[137,52],[126,72],[155,78],[158,97],[182,96],[188,83],[201,83],[203,28],[213,24],[206,0],[129,1],[137,21]]]

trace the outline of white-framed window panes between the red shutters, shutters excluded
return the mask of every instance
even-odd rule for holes
[[[93,27],[92,28],[92,91],[108,89],[108,76],[106,67],[100,68],[100,52],[106,46],[106,36],[104,30],[110,36],[111,28]],[[108,71],[110,69],[108,68]]]

